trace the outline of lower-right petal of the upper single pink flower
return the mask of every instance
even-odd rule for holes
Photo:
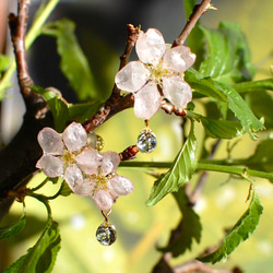
[[[180,76],[163,79],[163,94],[176,107],[186,108],[192,99],[190,85]]]

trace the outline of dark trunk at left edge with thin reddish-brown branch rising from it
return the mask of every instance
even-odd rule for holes
[[[14,14],[9,16],[19,84],[26,112],[15,138],[0,151],[0,205],[5,207],[5,211],[13,200],[9,192],[24,187],[36,170],[35,164],[41,155],[37,143],[37,133],[46,126],[54,126],[52,116],[46,102],[28,87],[33,85],[28,74],[24,44],[28,7],[29,0],[19,0],[17,16]],[[2,212],[1,210],[0,219],[3,215]]]

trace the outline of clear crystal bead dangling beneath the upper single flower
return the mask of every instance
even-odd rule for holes
[[[152,153],[156,147],[156,135],[150,129],[144,129],[140,132],[136,146],[142,153]]]

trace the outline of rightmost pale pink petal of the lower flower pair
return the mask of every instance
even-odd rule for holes
[[[109,180],[109,191],[118,195],[127,195],[133,191],[133,183],[129,178],[116,175]]]

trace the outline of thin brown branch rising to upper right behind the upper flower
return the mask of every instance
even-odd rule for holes
[[[173,47],[182,46],[190,32],[197,24],[198,20],[210,8],[211,0],[203,0],[201,4],[197,4],[190,15],[186,26],[183,27],[181,34],[174,41]]]

